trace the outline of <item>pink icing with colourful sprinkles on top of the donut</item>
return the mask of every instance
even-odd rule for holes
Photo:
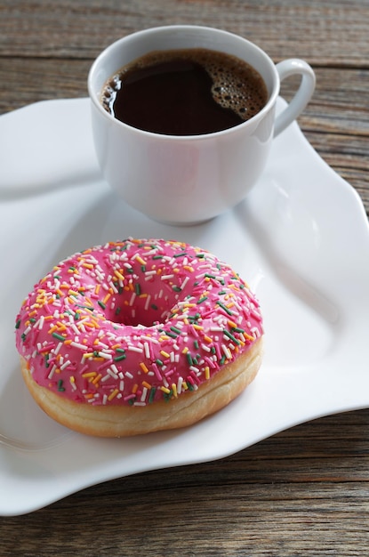
[[[262,334],[259,303],[229,265],[162,239],[72,255],[40,280],[16,322],[36,383],[92,405],[197,390]]]

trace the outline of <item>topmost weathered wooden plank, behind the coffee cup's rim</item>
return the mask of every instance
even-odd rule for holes
[[[317,65],[361,66],[369,59],[366,0],[265,3],[251,0],[107,0],[103,4],[59,0],[2,0],[3,56],[91,59],[116,40],[141,28],[176,23],[225,28],[269,52],[274,60],[297,56]]]

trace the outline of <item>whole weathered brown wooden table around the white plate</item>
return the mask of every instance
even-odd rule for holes
[[[274,61],[309,61],[317,91],[301,128],[369,210],[368,0],[1,0],[0,114],[86,96],[103,47],[173,23],[226,28]],[[297,426],[218,462],[110,481],[0,519],[4,556],[346,556],[367,554],[368,542],[369,410]]]

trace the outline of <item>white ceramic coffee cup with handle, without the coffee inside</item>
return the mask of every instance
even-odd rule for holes
[[[184,48],[221,51],[249,63],[267,85],[267,104],[240,125],[189,136],[146,132],[102,107],[103,85],[118,69],[148,52]],[[276,118],[280,82],[295,74],[301,75],[301,85]],[[88,77],[100,168],[109,185],[149,217],[172,224],[204,222],[245,198],[262,173],[273,137],[301,114],[314,88],[315,75],[305,61],[275,65],[261,48],[221,29],[180,25],[124,36],[100,53]]]

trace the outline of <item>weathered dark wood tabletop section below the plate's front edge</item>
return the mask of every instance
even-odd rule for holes
[[[364,555],[368,426],[366,410],[326,417],[220,461],[85,489],[3,519],[2,554]]]

